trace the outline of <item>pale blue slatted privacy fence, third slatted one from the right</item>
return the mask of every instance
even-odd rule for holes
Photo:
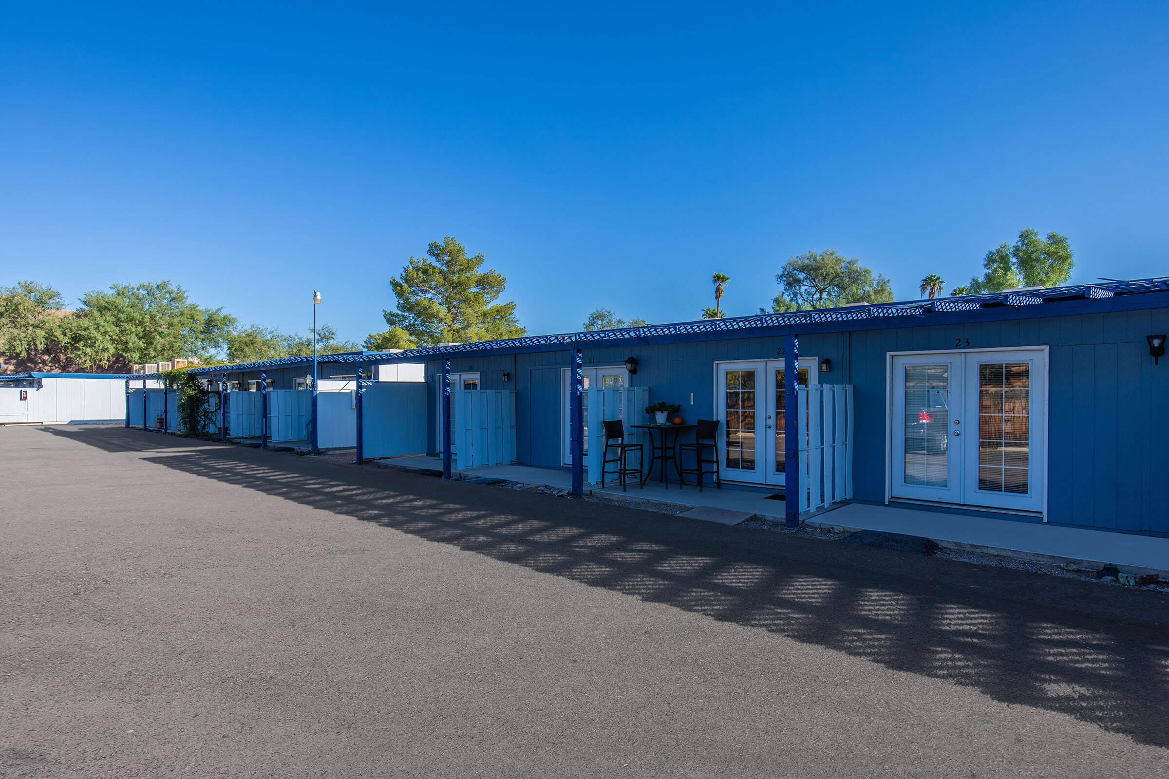
[[[516,461],[516,392],[451,390],[454,459],[458,467],[507,465]]]

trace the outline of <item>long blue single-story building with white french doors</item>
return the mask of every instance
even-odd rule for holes
[[[803,471],[824,486],[826,460],[787,467],[801,447],[784,430],[815,426],[791,402],[797,369],[801,385],[851,388],[835,397],[849,404],[852,501],[1169,534],[1167,332],[1169,278],[1154,278],[340,359],[426,361],[431,454],[451,448],[444,377],[456,392],[513,392],[514,461],[574,468],[576,488],[596,440],[582,406],[602,387],[719,420],[725,481],[774,492]]]

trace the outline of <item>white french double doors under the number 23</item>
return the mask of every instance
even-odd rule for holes
[[[1043,513],[1046,352],[892,360],[890,495]]]

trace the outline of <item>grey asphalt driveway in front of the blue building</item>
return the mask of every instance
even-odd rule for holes
[[[0,774],[1169,774],[1169,598],[0,429]]]

